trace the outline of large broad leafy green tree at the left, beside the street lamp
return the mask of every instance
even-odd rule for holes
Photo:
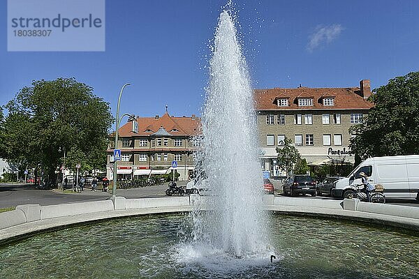
[[[6,105],[0,156],[13,163],[43,167],[50,179],[64,163],[75,169],[105,165],[110,107],[74,78],[34,81]]]

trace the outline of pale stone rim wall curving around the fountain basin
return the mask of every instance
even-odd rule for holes
[[[110,218],[155,213],[192,211],[204,197],[116,197],[98,202],[78,202],[40,206],[26,204],[0,213],[0,243],[13,241],[45,230]],[[369,204],[358,199],[319,200],[293,197],[263,197],[265,210],[292,215],[332,217],[358,222],[390,225],[419,231],[419,207]]]

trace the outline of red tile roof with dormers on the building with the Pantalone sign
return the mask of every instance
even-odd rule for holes
[[[360,96],[359,87],[256,89],[256,110],[369,110],[373,105]],[[277,105],[277,99],[288,99],[288,106]],[[313,98],[312,106],[298,106],[298,98]],[[323,105],[323,98],[334,98],[335,105]]]

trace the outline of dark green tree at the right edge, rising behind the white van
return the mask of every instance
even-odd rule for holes
[[[419,153],[419,72],[395,77],[374,89],[374,107],[351,127],[350,148],[361,160]]]

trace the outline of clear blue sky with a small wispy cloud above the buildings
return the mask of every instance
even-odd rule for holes
[[[419,1],[236,1],[254,88],[372,88],[418,71]],[[226,1],[107,0],[105,52],[7,52],[0,1],[0,105],[31,80],[75,77],[122,113],[200,114],[209,42]]]

